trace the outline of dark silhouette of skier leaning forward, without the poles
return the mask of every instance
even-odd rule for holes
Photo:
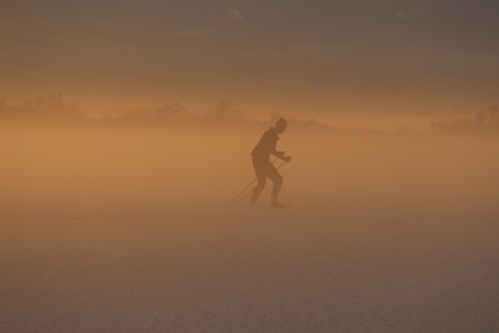
[[[270,206],[272,207],[284,207],[283,204],[277,202],[277,196],[279,195],[279,190],[282,186],[282,176],[279,174],[277,169],[270,163],[268,158],[270,154],[277,156],[283,161],[289,162],[291,160],[290,156],[285,156],[285,151],[277,151],[275,146],[277,145],[277,140],[279,137],[277,134],[282,134],[286,130],[287,121],[280,118],[275,123],[275,127],[270,127],[260,138],[258,144],[253,148],[251,156],[253,157],[253,169],[256,173],[256,179],[258,184],[256,185],[253,193],[251,195],[250,205],[256,203],[258,195],[261,193],[265,187],[265,178],[270,178],[274,182],[272,187]]]

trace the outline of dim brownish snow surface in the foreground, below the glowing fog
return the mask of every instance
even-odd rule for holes
[[[0,212],[0,332],[499,332],[499,220]]]

